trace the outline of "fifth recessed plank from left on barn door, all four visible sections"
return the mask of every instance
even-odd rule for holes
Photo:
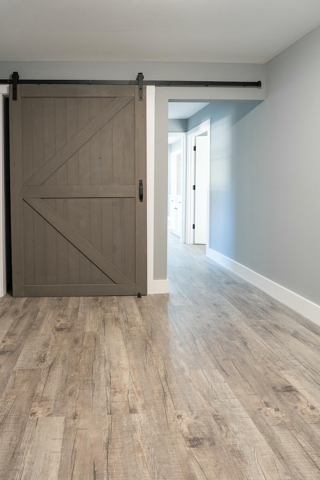
[[[70,141],[78,132],[78,101],[76,97],[66,99],[66,140]],[[75,152],[66,162],[67,184],[79,184],[79,158]],[[77,198],[67,199],[68,223],[79,231],[79,202]],[[68,243],[68,271],[69,283],[80,283],[79,251]]]

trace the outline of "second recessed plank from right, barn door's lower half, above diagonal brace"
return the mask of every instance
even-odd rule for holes
[[[113,264],[124,272],[123,198],[113,198]]]

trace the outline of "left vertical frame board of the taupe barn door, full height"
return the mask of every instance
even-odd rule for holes
[[[11,195],[11,251],[12,294],[24,295],[23,209],[22,209],[22,139],[21,139],[21,85],[17,85],[17,99],[12,100],[9,86],[10,121],[10,195]]]

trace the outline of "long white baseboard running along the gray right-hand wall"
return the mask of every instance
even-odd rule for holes
[[[218,251],[207,248],[206,255],[211,260],[219,263],[219,265],[224,266],[224,268],[227,268],[244,280],[252,283],[252,285],[260,288],[260,290],[263,290],[276,300],[284,303],[284,305],[289,306],[292,310],[297,311],[300,315],[303,315],[317,325],[320,325],[320,305],[317,305],[316,303],[303,298],[303,296],[294,293],[294,291],[288,290],[284,286],[250,270],[250,268],[222,255],[222,253],[219,253]]]

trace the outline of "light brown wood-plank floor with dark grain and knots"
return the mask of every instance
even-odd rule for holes
[[[169,253],[169,295],[0,299],[1,480],[320,479],[320,328]]]

